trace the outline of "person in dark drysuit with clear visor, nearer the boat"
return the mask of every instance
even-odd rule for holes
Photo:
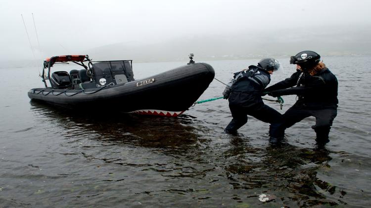
[[[271,81],[271,74],[279,68],[276,59],[266,58],[260,60],[258,66],[252,65],[247,70],[234,73],[230,94],[223,93],[224,98],[229,100],[233,117],[224,130],[226,133],[236,135],[237,129],[247,123],[247,115],[266,123],[279,122],[281,114],[265,105],[261,98],[264,88]]]

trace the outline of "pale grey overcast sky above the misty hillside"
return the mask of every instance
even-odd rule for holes
[[[116,43],[136,47],[177,38],[249,32],[269,38],[276,31],[295,34],[300,28],[371,26],[371,0],[0,0],[0,4],[0,62],[33,59],[21,14],[37,58]]]

